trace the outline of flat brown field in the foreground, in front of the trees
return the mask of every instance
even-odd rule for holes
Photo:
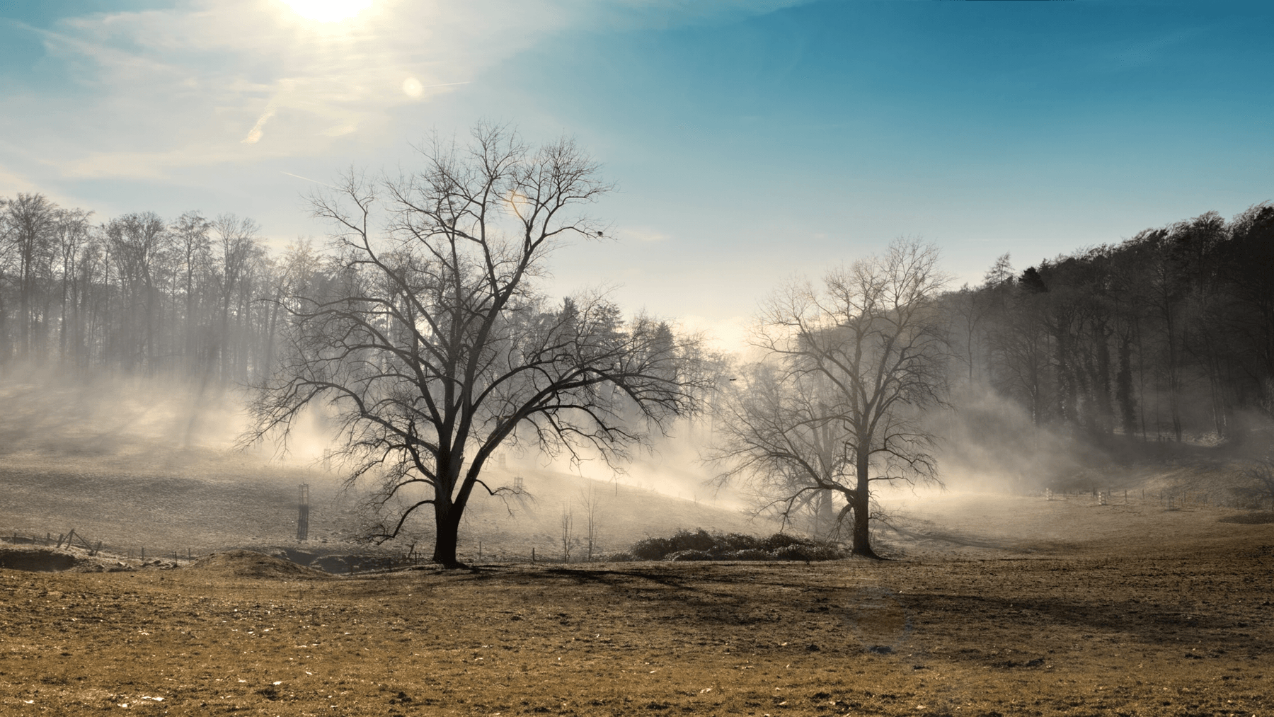
[[[0,569],[0,712],[1274,712],[1274,526],[1026,497],[899,509],[883,563]]]

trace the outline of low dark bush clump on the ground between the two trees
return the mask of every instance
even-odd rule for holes
[[[636,560],[834,560],[840,548],[806,537],[776,532],[755,537],[740,532],[679,530],[670,537],[647,537],[633,544],[626,555]]]

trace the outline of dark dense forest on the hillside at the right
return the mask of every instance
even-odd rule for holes
[[[1036,425],[1241,439],[1274,414],[1274,205],[1209,211],[944,297],[968,383]]]

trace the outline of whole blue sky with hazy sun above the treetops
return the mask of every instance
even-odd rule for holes
[[[512,121],[619,185],[596,208],[619,241],[554,255],[552,289],[726,341],[784,279],[897,236],[977,281],[1274,200],[1269,3],[6,3],[0,195],[233,211],[283,246],[324,234],[293,174]]]

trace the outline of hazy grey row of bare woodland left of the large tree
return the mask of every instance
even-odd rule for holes
[[[268,299],[318,266],[306,242],[270,256],[233,214],[93,219],[38,194],[0,199],[0,366],[247,381],[274,358]]]

